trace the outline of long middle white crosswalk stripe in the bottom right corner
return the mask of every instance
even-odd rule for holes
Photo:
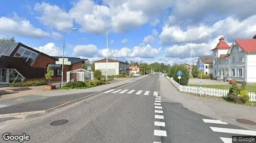
[[[217,128],[210,127],[213,132],[221,132],[221,133],[235,133],[235,134],[245,134],[245,135],[256,135],[256,131],[250,130],[240,130],[240,129],[229,129],[229,128]]]

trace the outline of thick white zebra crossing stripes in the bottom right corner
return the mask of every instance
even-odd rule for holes
[[[221,120],[210,120],[210,119],[202,119],[204,123],[213,123],[213,124],[222,124],[227,125],[228,123],[222,122]],[[222,128],[222,127],[209,127],[213,132],[218,133],[233,133],[233,134],[241,134],[241,135],[256,135],[256,131],[251,130],[241,130],[241,129],[232,129],[232,128]],[[232,134],[231,134],[232,136]],[[220,137],[223,143],[232,143],[232,138]]]

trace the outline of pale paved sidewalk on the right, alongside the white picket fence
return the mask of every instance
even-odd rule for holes
[[[160,76],[160,95],[163,97],[163,102],[179,102],[191,111],[256,131],[254,125],[235,121],[247,119],[256,122],[256,107],[220,102],[179,92],[164,76]]]

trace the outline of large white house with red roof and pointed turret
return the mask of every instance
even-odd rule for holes
[[[213,51],[213,76],[256,83],[256,35],[253,39],[234,40],[232,45],[221,37]]]

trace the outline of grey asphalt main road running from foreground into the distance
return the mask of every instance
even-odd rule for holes
[[[52,112],[0,118],[0,134],[26,133],[31,138],[27,143],[223,143],[220,137],[226,141],[239,134],[214,129],[242,129],[221,121],[206,123],[203,119],[216,120],[166,96],[160,96],[159,74],[153,74]],[[50,125],[60,119],[68,122]]]

